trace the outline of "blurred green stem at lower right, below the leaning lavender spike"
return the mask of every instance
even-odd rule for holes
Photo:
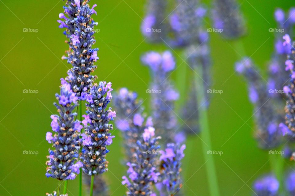
[[[279,192],[280,195],[285,195],[284,194],[284,179],[282,178],[282,171],[284,168],[284,161],[283,157],[279,154],[270,154],[269,153],[269,160],[270,160],[270,168],[277,180],[280,183],[280,188]]]

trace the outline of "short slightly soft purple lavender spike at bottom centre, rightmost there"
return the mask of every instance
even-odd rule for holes
[[[174,143],[167,144],[165,152],[160,151],[161,157],[161,173],[163,173],[163,184],[166,186],[166,190],[169,196],[177,195],[177,192],[182,187],[182,181],[180,179],[181,172],[181,160],[184,157],[183,151],[185,145],[179,145]]]

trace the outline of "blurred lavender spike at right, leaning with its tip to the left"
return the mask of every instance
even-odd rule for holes
[[[269,98],[269,92],[265,81],[258,73],[252,61],[245,60],[236,63],[236,71],[244,75],[249,88],[249,99],[254,105],[255,132],[258,145],[263,149],[275,148],[281,143],[281,132],[278,124],[282,121],[282,115],[278,112],[276,104]]]

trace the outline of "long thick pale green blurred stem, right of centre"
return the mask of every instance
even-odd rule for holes
[[[200,135],[202,138],[202,149],[203,149],[203,156],[206,161],[206,173],[207,173],[207,180],[209,184],[209,190],[211,196],[219,196],[219,188],[218,188],[218,180],[215,171],[214,165],[214,157],[212,154],[208,154],[207,152],[212,149],[211,145],[211,138],[209,132],[209,125],[207,119],[207,108],[204,96],[204,88],[203,88],[203,80],[199,76],[203,76],[202,67],[197,66],[195,71],[197,74],[194,74],[195,77],[195,87],[197,92],[197,103],[199,106],[199,124],[200,124]]]

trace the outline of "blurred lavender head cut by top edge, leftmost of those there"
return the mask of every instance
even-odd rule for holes
[[[150,42],[162,42],[167,34],[167,24],[164,22],[167,0],[147,2],[147,13],[141,24],[141,32]]]

